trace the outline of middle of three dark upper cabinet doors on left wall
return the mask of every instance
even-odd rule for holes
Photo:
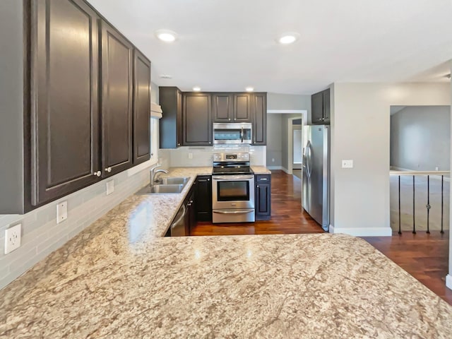
[[[104,176],[132,165],[133,46],[102,21],[102,169]]]

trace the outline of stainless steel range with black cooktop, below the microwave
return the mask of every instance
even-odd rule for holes
[[[249,153],[215,153],[212,221],[254,222],[254,172]]]

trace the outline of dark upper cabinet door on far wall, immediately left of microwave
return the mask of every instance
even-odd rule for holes
[[[211,145],[210,94],[184,93],[182,107],[184,145]]]

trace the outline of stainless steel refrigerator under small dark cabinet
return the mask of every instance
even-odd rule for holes
[[[330,214],[330,126],[303,126],[302,206],[323,230]]]

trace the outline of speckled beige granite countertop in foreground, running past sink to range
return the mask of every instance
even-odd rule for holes
[[[127,198],[1,290],[0,337],[451,338],[452,307],[362,239],[162,237],[187,191]]]

